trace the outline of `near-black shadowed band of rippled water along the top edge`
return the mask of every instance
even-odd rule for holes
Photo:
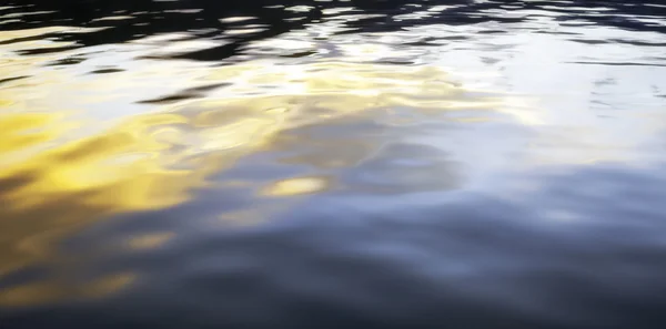
[[[145,37],[171,32],[186,32],[182,40],[212,40],[220,44],[195,51],[183,51],[168,58],[198,61],[220,61],[242,54],[252,41],[264,40],[282,33],[316,24],[322,20],[344,17],[346,30],[341,33],[397,31],[425,24],[465,25],[482,22],[517,23],[539,14],[557,13],[557,20],[566,24],[575,21],[583,25],[607,25],[630,31],[666,33],[666,27],[642,20],[664,18],[666,8],[660,1],[310,1],[310,0],[24,0],[4,1],[0,11],[3,20],[0,30],[12,31],[47,27],[99,28],[94,31],[61,31],[2,41],[9,44],[20,41],[52,39],[74,42],[74,45],[50,49],[26,49],[26,55],[59,52],[101,44],[124,43]],[[301,8],[299,8],[301,6]],[[305,6],[305,7],[303,7]],[[423,6],[423,7],[422,7]],[[404,14],[423,12],[425,6],[446,6],[427,12],[418,19],[402,19]],[[326,9],[353,7],[352,11],[324,13]],[[512,10],[534,10],[534,16],[509,17]],[[350,14],[356,14],[352,17]],[[361,16],[359,16],[361,14]],[[363,16],[365,14],[365,16]],[[367,16],[372,14],[372,16]],[[246,17],[248,20],[225,21],[229,17]],[[225,33],[251,28],[241,34]],[[627,41],[630,42],[630,41]],[[284,54],[300,56],[304,54]],[[73,62],[72,62],[73,63]]]

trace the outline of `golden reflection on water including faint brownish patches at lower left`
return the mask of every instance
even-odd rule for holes
[[[0,40],[44,32],[2,32]],[[466,97],[466,91],[452,84],[436,68],[335,61],[299,65],[255,61],[210,68],[144,61],[148,69],[139,65],[112,74],[80,75],[75,65],[59,70],[46,66],[59,56],[75,53],[14,53],[27,47],[62,44],[18,42],[0,50],[0,72],[4,76],[29,75],[0,85],[0,279],[32,265],[47,265],[54,276],[67,273],[62,267],[70,261],[62,259],[68,255],[58,250],[58,243],[67,236],[114,214],[183,204],[196,189],[214,186],[206,178],[240,157],[284,147],[289,135],[284,132],[289,130],[373,111],[391,116],[392,109],[400,106],[436,115],[446,110],[490,111],[501,109],[504,102],[492,96]],[[123,47],[135,45],[118,45]],[[179,92],[169,88],[211,82],[226,86],[198,97],[143,105],[143,112],[127,110],[139,109],[137,104],[145,100],[140,99],[147,94],[144,85],[169,95]],[[119,93],[119,88],[133,92]],[[467,120],[483,121],[483,114],[475,115]],[[371,142],[346,145],[354,143],[359,147],[352,147],[356,152],[351,150],[349,158],[301,161],[353,165],[367,156],[363,143]],[[307,141],[287,144],[297,148]],[[306,195],[331,184],[334,182],[330,177],[293,177],[266,183],[260,194]],[[261,222],[246,210],[234,212],[220,218],[235,214],[252,217],[248,223]],[[174,236],[157,233],[129,239],[127,245],[150,249]],[[28,282],[0,291],[0,306],[108,295],[138,277],[128,273],[88,284],[68,284],[67,279]]]

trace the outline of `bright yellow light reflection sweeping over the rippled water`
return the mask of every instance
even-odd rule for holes
[[[38,244],[43,245],[41,250],[32,247],[28,254],[16,247],[37,232],[64,234],[112,214],[181,204],[194,188],[208,186],[209,174],[248,153],[279,146],[274,138],[283,136],[285,130],[369,111],[391,114],[396,106],[423,113],[467,107],[491,112],[497,102],[465,99],[466,91],[447,82],[446,74],[434,68],[249,62],[208,68],[201,73],[201,79],[230,82],[232,86],[211,92],[201,101],[165,106],[163,112],[129,116],[115,126],[100,125],[97,133],[81,134],[92,131],[89,123],[64,116],[56,106],[42,112],[14,107],[4,115],[0,123],[0,152],[6,164],[0,168],[0,201],[7,206],[0,209],[0,244],[7,251],[0,256],[0,273],[46,257],[47,241]],[[127,74],[124,83],[137,76]],[[22,91],[50,88],[56,89],[52,94],[59,94],[59,88],[67,93],[67,88],[80,85],[44,84]],[[256,94],[264,85],[269,88]],[[103,89],[97,92],[105,95]],[[37,151],[26,153],[31,147]],[[367,147],[360,147],[361,154],[353,158],[365,156],[363,150]],[[18,157],[19,153],[26,154]],[[264,192],[313,193],[323,185],[322,181],[301,178]]]

